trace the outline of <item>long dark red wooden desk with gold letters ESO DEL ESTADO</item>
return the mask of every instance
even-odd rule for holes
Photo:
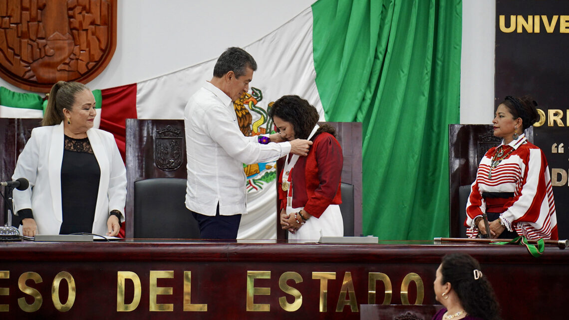
[[[552,246],[534,258],[518,245],[434,241],[126,239],[0,243],[0,314],[359,319],[361,304],[437,303],[435,270],[451,252],[481,262],[504,319],[555,318],[565,310],[569,251]],[[66,301],[71,307],[63,312]]]

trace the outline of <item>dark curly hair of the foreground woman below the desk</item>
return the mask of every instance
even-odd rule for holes
[[[473,257],[465,253],[446,255],[440,268],[441,284],[450,282],[468,314],[484,320],[500,319],[500,305],[492,285],[484,274],[476,279],[474,270],[481,268]]]

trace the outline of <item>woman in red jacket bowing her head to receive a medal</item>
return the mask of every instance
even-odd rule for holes
[[[279,174],[278,194],[281,227],[288,239],[318,240],[320,236],[343,236],[340,213],[340,176],[344,158],[336,129],[319,126],[314,106],[299,96],[283,96],[269,116],[284,140],[314,142],[306,157],[288,154]]]

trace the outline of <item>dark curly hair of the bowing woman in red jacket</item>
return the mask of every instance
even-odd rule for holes
[[[320,118],[316,108],[299,96],[282,96],[269,110],[269,117],[279,117],[283,121],[290,122],[294,136],[299,139],[307,139]],[[314,137],[323,132],[336,137],[336,129],[331,125],[321,125]]]

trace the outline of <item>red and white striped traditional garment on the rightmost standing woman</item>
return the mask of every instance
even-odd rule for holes
[[[545,154],[527,141],[525,134],[508,146],[514,151],[492,169],[492,178],[488,178],[490,163],[500,146],[488,150],[480,161],[467,202],[467,219],[464,221],[464,225],[469,227],[467,235],[478,236],[478,228],[473,228],[472,224],[486,211],[483,192],[513,192],[514,197],[504,204],[505,211],[500,214],[506,228],[527,239],[558,239],[555,202]],[[505,153],[511,150],[507,146],[505,149],[508,149]]]

